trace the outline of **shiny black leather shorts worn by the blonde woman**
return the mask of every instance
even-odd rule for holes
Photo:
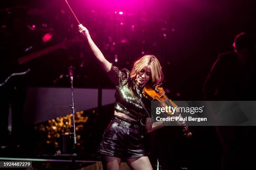
[[[146,156],[140,122],[113,115],[103,133],[98,152],[121,159]]]

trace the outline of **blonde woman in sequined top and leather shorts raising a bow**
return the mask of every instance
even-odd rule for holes
[[[131,72],[119,70],[105,59],[82,24],[79,32],[88,40],[92,52],[116,86],[115,113],[104,131],[99,148],[103,168],[119,170],[120,160],[125,158],[133,170],[153,170],[144,147],[145,129],[142,125],[146,125],[147,132],[163,125],[150,121],[149,111],[144,105],[149,100],[142,95],[142,88],[147,82],[157,84],[163,80],[159,60],[154,55],[145,55],[134,63]],[[144,124],[143,118],[146,118]]]

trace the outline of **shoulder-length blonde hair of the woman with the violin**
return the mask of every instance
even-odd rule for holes
[[[143,69],[143,67],[150,65],[151,80],[154,85],[162,82],[164,74],[159,60],[154,55],[144,55],[133,64],[131,70],[131,78],[136,79],[137,74]]]

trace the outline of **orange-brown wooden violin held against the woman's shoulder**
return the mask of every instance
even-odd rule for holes
[[[166,107],[166,106],[177,107],[177,105],[166,96],[163,87],[161,87],[161,84],[157,84],[154,86],[154,85],[149,85],[147,83],[143,87],[142,94],[149,100],[159,101],[162,107]],[[177,112],[174,112],[174,113],[169,112],[168,114],[174,115],[177,117],[179,116],[179,113]],[[190,138],[192,136],[192,133],[189,131],[188,126],[184,125],[182,128],[183,128],[182,131],[184,133],[184,136],[186,138]]]

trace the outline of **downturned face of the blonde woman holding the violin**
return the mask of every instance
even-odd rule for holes
[[[151,79],[150,65],[143,67],[136,76],[137,84],[143,87]]]

